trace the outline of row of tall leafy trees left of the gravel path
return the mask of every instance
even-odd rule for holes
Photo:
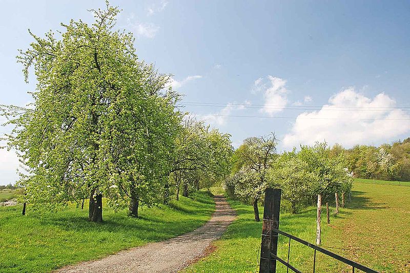
[[[93,10],[95,22],[61,24],[17,57],[37,88],[29,108],[2,106],[7,135],[24,166],[22,201],[63,206],[89,198],[103,220],[103,196],[138,216],[141,204],[168,203],[229,173],[230,136],[178,110],[170,77],[138,59],[130,33],[114,30],[119,10]],[[177,197],[178,197],[177,194]]]

